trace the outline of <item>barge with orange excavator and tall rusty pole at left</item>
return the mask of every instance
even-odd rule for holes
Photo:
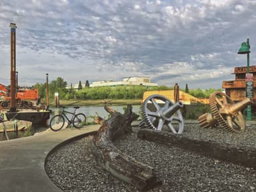
[[[11,27],[11,87],[0,84],[0,112],[5,113],[7,120],[19,119],[31,121],[33,125],[47,125],[50,111],[37,101],[23,101],[23,99],[39,99],[38,89],[18,90],[16,71],[16,24],[10,23]],[[34,105],[35,104],[35,105]],[[26,110],[23,110],[26,109]],[[27,109],[30,111],[27,112]]]

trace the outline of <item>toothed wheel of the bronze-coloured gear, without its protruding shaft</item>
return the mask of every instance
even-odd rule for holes
[[[227,131],[244,131],[245,120],[241,111],[229,113],[229,107],[233,104],[235,103],[221,91],[215,91],[209,97],[209,105],[213,116],[223,129]],[[221,111],[225,111],[225,113],[221,113]]]

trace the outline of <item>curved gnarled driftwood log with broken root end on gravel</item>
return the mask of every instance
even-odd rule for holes
[[[132,132],[131,122],[138,115],[132,112],[131,105],[127,105],[124,114],[114,111],[106,105],[105,109],[111,114],[111,117],[106,121],[101,121],[103,124],[93,137],[91,147],[91,152],[97,163],[113,176],[131,183],[140,191],[159,185],[160,182],[157,181],[152,167],[129,157],[113,145],[115,139]]]

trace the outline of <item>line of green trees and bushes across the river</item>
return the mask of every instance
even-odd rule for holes
[[[46,98],[46,83],[36,83],[33,87],[39,89],[39,95]],[[67,82],[63,78],[57,77],[49,83],[49,99],[54,99],[55,92],[59,93],[60,99],[81,99],[81,100],[95,100],[95,99],[142,99],[144,91],[157,91],[157,90],[171,90],[173,87],[167,87],[161,85],[158,87],[146,87],[142,85],[117,85],[114,87],[103,86],[103,87],[89,87],[89,82],[86,81],[85,87],[81,86],[79,81],[79,89],[75,90],[71,85],[67,89]],[[181,89],[181,88],[180,88]],[[208,98],[211,93],[220,89],[188,89],[186,85],[185,91],[190,95],[200,98]]]

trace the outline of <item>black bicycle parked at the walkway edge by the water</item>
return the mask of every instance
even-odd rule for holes
[[[59,131],[65,123],[65,119],[67,119],[68,121],[68,125],[73,124],[73,126],[77,129],[83,127],[83,125],[85,125],[85,121],[86,121],[86,117],[85,114],[83,113],[75,113],[75,111],[77,111],[77,109],[79,109],[80,107],[76,106],[73,107],[75,108],[75,111],[73,113],[69,112],[69,111],[65,111],[64,108],[62,107],[63,110],[61,111],[61,113],[59,113],[59,115],[54,115],[51,118],[51,121],[49,123],[51,130],[53,131]],[[72,114],[71,119],[69,119],[69,117],[67,117],[67,113]]]

